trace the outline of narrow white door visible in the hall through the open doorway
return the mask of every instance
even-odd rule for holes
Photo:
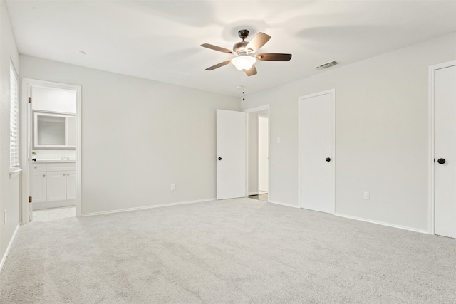
[[[258,192],[259,194],[269,190],[269,135],[268,117],[258,115]]]

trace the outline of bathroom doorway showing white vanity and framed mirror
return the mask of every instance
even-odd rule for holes
[[[81,87],[24,78],[22,222],[81,214]]]

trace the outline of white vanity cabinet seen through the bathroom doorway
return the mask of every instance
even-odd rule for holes
[[[31,196],[35,210],[75,205],[75,163],[46,162],[32,164]]]

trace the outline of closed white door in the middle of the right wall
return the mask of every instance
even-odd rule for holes
[[[333,90],[299,98],[301,208],[334,212]]]

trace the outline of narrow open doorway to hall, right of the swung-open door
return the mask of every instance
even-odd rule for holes
[[[249,198],[269,201],[269,105],[249,112]]]

